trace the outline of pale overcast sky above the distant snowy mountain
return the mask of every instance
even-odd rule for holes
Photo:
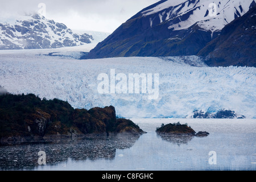
[[[1,18],[22,15],[46,5],[46,18],[73,30],[113,32],[144,7],[159,0],[0,0]]]

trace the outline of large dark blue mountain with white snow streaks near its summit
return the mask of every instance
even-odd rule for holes
[[[163,0],[123,23],[88,58],[197,55],[254,0]]]

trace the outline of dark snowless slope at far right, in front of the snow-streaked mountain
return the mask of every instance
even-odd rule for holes
[[[205,63],[216,66],[256,67],[256,6],[226,25],[200,52]]]

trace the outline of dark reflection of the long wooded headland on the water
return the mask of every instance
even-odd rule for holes
[[[27,144],[0,147],[0,169],[30,169],[39,166],[38,152],[46,152],[46,162],[56,164],[72,160],[114,159],[117,149],[130,148],[139,136],[90,137],[52,144]]]

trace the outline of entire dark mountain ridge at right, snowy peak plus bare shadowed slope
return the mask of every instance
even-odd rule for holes
[[[210,17],[209,3],[159,1],[123,23],[85,58],[199,55],[209,66],[255,66],[255,16],[249,15],[255,1],[220,1],[216,17]],[[235,30],[240,33],[232,42],[226,36]]]

